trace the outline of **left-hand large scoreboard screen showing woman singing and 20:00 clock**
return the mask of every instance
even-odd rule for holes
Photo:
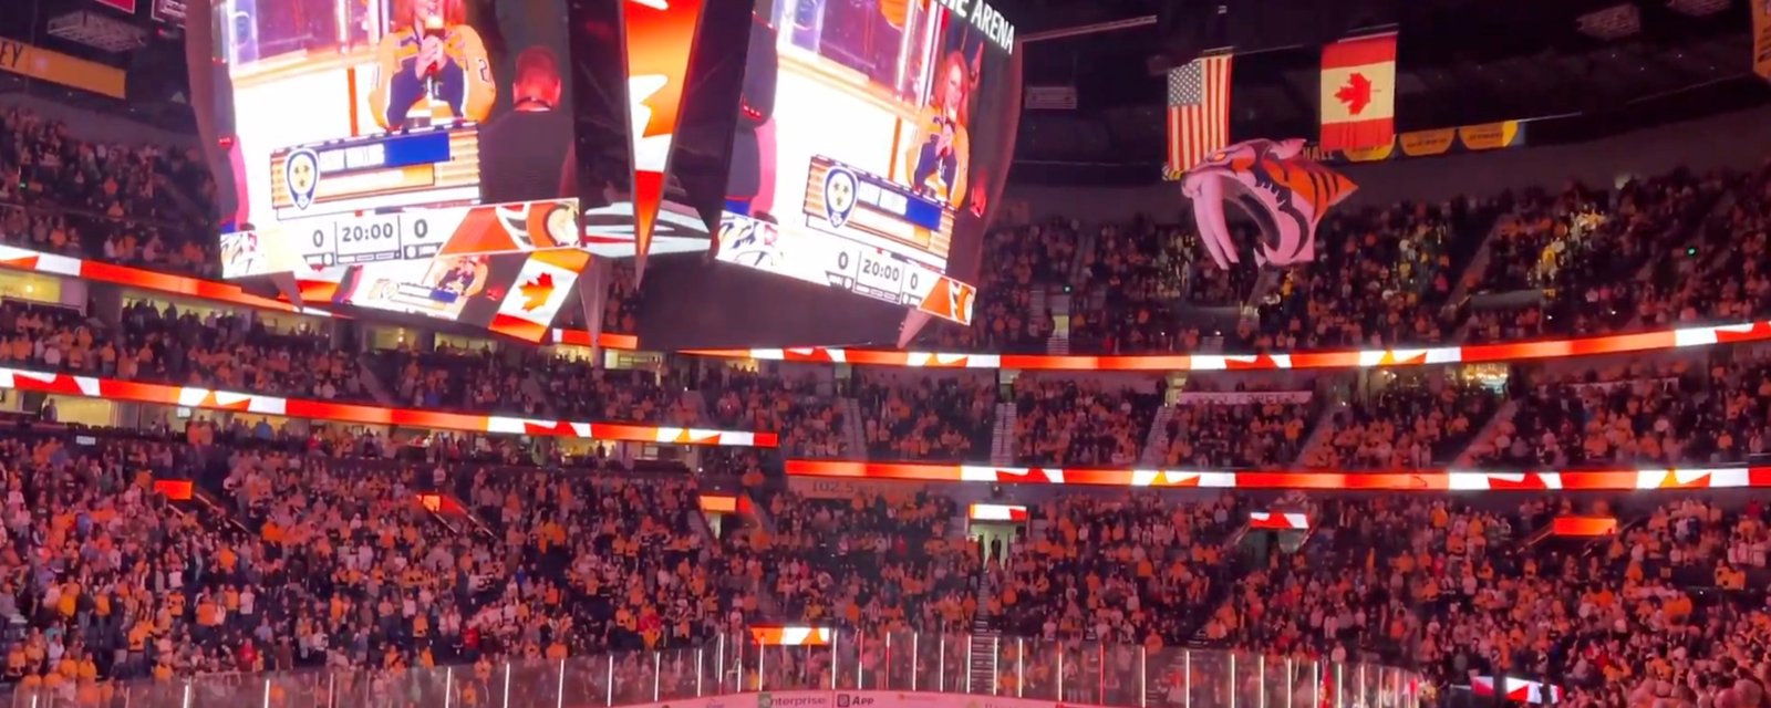
[[[223,276],[579,244],[561,0],[214,12],[243,205]],[[542,223],[514,237],[512,216]]]

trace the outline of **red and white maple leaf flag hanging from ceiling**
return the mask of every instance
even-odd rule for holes
[[[1325,150],[1355,150],[1396,140],[1396,34],[1346,39],[1323,48]]]

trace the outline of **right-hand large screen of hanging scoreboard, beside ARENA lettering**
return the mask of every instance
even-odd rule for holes
[[[792,0],[756,18],[717,258],[971,320],[955,235],[1004,177],[988,90],[1013,27],[988,4]]]

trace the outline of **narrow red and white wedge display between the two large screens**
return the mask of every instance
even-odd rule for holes
[[[652,228],[664,204],[669,147],[682,112],[701,0],[627,0],[622,28],[627,35],[627,101],[634,145],[634,278],[646,273]]]

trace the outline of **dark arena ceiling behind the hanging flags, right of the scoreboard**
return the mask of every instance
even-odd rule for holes
[[[1401,32],[1399,131],[1562,117],[1534,126],[1532,142],[1564,142],[1744,108],[1771,97],[1752,74],[1748,2],[1759,0],[1004,0],[1029,41],[1027,83],[1073,85],[1079,97],[1077,112],[1027,112],[1017,158],[1155,165],[1160,69],[1226,44],[1238,48],[1233,136],[1311,136],[1321,44],[1380,27]],[[1606,11],[1596,18],[1606,32],[1582,28]],[[1636,28],[1617,21],[1631,16]]]

